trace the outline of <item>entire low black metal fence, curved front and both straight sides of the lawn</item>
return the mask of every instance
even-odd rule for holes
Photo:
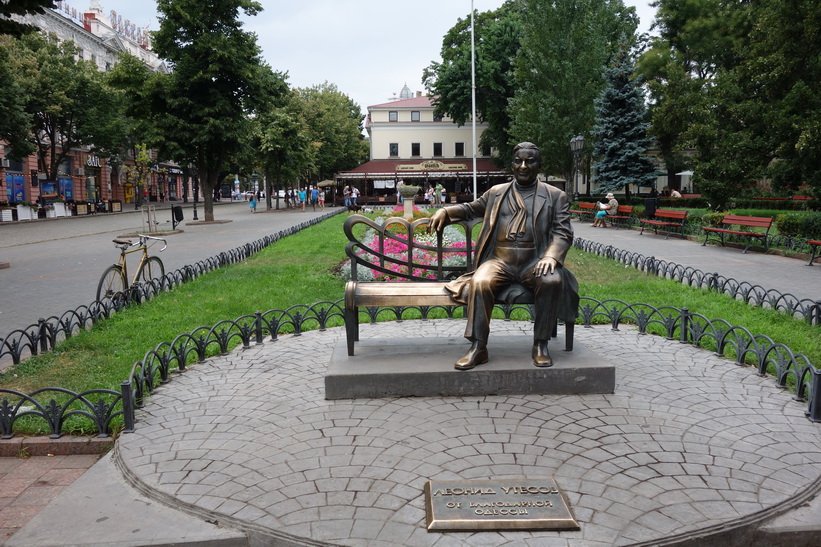
[[[16,346],[9,344],[9,337],[6,337],[3,342],[4,348],[27,347],[30,353],[35,355],[38,351],[49,351],[60,339],[71,336],[82,328],[90,327],[119,311],[129,302],[150,300],[160,291],[173,288],[223,265],[243,260],[284,235],[295,233],[310,224],[312,223],[305,223],[293,230],[280,232],[276,236],[244,245],[229,253],[220,253],[217,257],[198,262],[195,266],[181,268],[162,279],[132,289],[129,298],[123,299],[122,302],[94,302],[88,307],[83,306],[66,312],[60,318],[52,318],[55,321],[41,321],[38,325],[30,327],[32,332],[25,332],[25,336],[18,339],[20,341]],[[766,291],[749,283],[725,279],[718,274],[705,274],[653,257],[620,251],[612,246],[585,240],[577,240],[576,245],[585,251],[608,256],[655,275],[706,290],[731,294],[745,302],[768,305],[792,315],[803,316],[813,325],[819,324],[818,302],[798,301],[791,295]],[[453,319],[463,316],[463,308],[373,307],[361,309],[360,313],[365,320],[376,323],[380,319]],[[497,310],[497,313],[506,320],[533,318],[532,306],[529,305],[497,306]],[[136,425],[135,410],[144,405],[146,397],[156,386],[171,381],[173,372],[184,371],[190,363],[201,362],[209,355],[225,354],[237,343],[247,348],[252,343],[263,344],[266,338],[269,341],[276,341],[283,333],[299,336],[305,330],[325,330],[332,326],[341,326],[343,323],[342,299],[318,302],[310,306],[291,306],[285,310],[257,312],[235,320],[220,321],[212,327],[199,327],[191,333],[176,337],[171,342],[160,343],[147,352],[142,361],[133,365],[129,376],[121,383],[119,392],[100,389],[75,393],[62,388],[44,388],[25,394],[0,389],[0,433],[2,438],[10,438],[13,436],[14,425],[19,420],[38,420],[47,425],[52,437],[59,437],[63,434],[68,421],[85,420],[87,425],[84,427],[106,437],[111,434],[112,421],[120,416],[124,431],[131,432]],[[814,367],[805,355],[795,353],[786,345],[777,343],[766,335],[753,334],[748,329],[732,325],[724,319],[710,320],[703,315],[691,313],[686,308],[655,307],[644,303],[629,304],[620,300],[600,301],[589,297],[581,298],[578,324],[584,327],[607,324],[613,330],[618,330],[623,325],[631,325],[641,334],[658,334],[669,340],[712,349],[716,355],[733,359],[738,366],[753,367],[755,372],[762,376],[772,375],[779,387],[792,391],[795,401],[807,403],[805,414],[808,419],[821,422],[821,370]],[[17,355],[19,360],[20,354]]]

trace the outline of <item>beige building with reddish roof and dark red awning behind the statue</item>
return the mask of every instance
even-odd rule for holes
[[[476,141],[487,124],[476,124]],[[368,107],[365,129],[370,138],[370,161],[338,173],[337,188],[356,186],[359,203],[391,201],[396,186],[442,184],[451,199],[473,195],[473,129],[434,115],[432,97],[411,93],[406,85],[399,98]],[[494,150],[476,150],[478,193],[506,179],[491,160]],[[341,192],[338,192],[341,195]]]

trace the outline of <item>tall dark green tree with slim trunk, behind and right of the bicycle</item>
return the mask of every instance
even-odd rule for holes
[[[262,10],[252,0],[158,0],[160,30],[154,51],[173,72],[154,90],[152,111],[166,146],[197,166],[205,220],[214,219],[220,174],[252,134],[251,117],[272,89],[256,37],[242,30],[240,10]]]

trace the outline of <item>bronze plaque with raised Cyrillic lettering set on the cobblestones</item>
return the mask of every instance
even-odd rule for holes
[[[553,479],[425,483],[428,531],[578,530]]]

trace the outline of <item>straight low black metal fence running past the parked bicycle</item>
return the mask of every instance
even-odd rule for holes
[[[283,237],[295,234],[343,211],[344,209],[340,208],[314,217],[251,243],[221,252],[194,264],[183,266],[150,282],[136,283],[129,287],[125,293],[118,293],[103,300],[95,300],[91,304],[69,310],[60,316],[53,315],[25,328],[12,331],[0,341],[0,361],[11,358],[12,364],[17,365],[26,357],[51,351],[62,340],[71,338],[78,332],[93,327],[103,319],[110,318],[126,306],[151,300],[157,294],[196,279],[204,273],[229,264],[242,262]]]

